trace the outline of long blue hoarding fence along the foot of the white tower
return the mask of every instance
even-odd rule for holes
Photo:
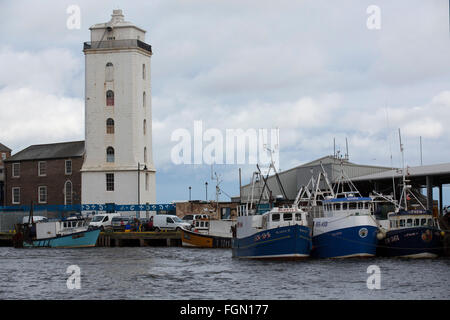
[[[175,204],[74,204],[35,205],[34,211],[173,211]],[[30,211],[30,206],[0,206],[0,211]]]

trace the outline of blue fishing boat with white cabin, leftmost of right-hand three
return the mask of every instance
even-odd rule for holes
[[[273,162],[268,170],[267,178],[261,170],[253,173],[252,194],[250,201],[239,206],[236,227],[233,229],[232,256],[248,259],[281,259],[297,260],[308,258],[311,251],[311,229],[308,226],[306,212],[295,204],[292,206],[272,206],[268,194],[267,178],[273,168],[283,192]],[[255,186],[264,182],[256,205],[253,202]],[[272,192],[270,192],[272,194]],[[262,203],[263,196],[269,203]]]

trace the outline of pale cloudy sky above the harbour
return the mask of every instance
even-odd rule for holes
[[[84,139],[84,55],[89,27],[113,9],[147,30],[152,45],[153,155],[157,201],[214,197],[208,165],[175,165],[171,133],[279,128],[280,168],[333,153],[349,141],[350,160],[401,166],[450,160],[448,0],[2,1],[0,142]],[[67,8],[81,10],[68,29]],[[370,5],[381,28],[369,29]],[[217,165],[229,195],[238,167]],[[450,200],[447,196],[445,200]],[[227,200],[223,194],[221,199]]]

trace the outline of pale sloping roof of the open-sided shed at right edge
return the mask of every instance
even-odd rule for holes
[[[433,176],[450,174],[450,163],[433,164],[428,166],[408,167],[405,168],[407,177],[419,177],[419,176]],[[400,178],[403,176],[401,169],[388,170],[380,173],[369,174],[358,178],[353,178],[353,181],[363,180],[380,180]]]

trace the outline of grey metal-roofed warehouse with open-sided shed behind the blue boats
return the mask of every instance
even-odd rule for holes
[[[399,168],[390,168],[382,166],[370,166],[352,163],[348,158],[337,156],[326,156],[295,168],[282,171],[278,174],[281,190],[275,175],[269,176],[267,185],[272,192],[273,198],[282,198],[287,202],[295,200],[298,191],[306,186],[312,177],[317,179],[320,172],[326,172],[328,180],[333,185],[344,175],[351,179],[361,195],[368,196],[373,191],[384,195],[393,195],[399,199],[402,190],[403,172]],[[444,213],[443,186],[450,184],[450,163],[426,165],[418,167],[406,167],[405,177],[407,183],[415,190],[419,200],[428,209],[435,214]],[[321,190],[326,189],[325,182],[319,186]],[[439,200],[433,199],[433,188],[438,188]],[[256,201],[259,199],[263,190],[261,179],[257,183],[250,182],[241,187],[241,201],[249,202],[252,197]],[[424,192],[421,192],[424,190]]]

